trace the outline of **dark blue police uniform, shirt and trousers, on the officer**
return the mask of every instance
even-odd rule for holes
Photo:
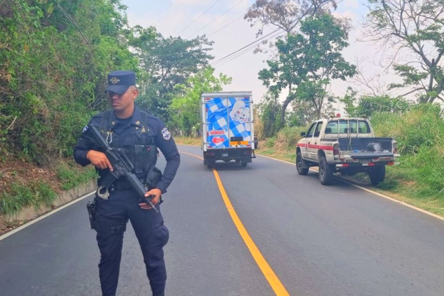
[[[114,116],[114,112],[108,111],[94,116],[89,124],[94,124],[97,127],[106,126],[106,129],[110,131],[106,136],[110,145],[112,147],[124,147],[129,151],[127,154],[132,160],[135,166],[134,172],[140,180],[146,177],[145,168],[149,165],[140,161],[140,154],[138,156],[134,155],[134,153],[138,154],[133,149],[134,145],[144,147],[142,156],[146,155],[146,158],[150,159],[151,162],[155,157],[154,164],[157,159],[157,149],[149,151],[150,147],[153,147],[150,144],[159,147],[167,163],[156,188],[160,189],[162,193],[166,192],[166,188],[176,175],[180,156],[176,143],[161,120],[141,112],[135,107],[133,116],[130,118],[119,119]],[[149,145],[145,145],[146,143]],[[148,148],[146,149],[146,147]],[[83,166],[90,164],[90,161],[86,158],[89,150],[99,149],[96,149],[88,138],[82,136],[74,149],[76,162]],[[98,170],[101,178],[107,172],[108,169]],[[99,185],[101,178],[98,180]],[[159,213],[155,213],[153,210],[141,209],[139,197],[135,194],[135,191],[130,189],[129,186],[125,186],[125,181],[117,180],[115,183],[114,190],[109,192],[108,200],[103,200],[98,196],[95,197],[97,204],[96,219],[99,224],[99,227],[96,228],[96,237],[101,252],[98,267],[102,293],[103,295],[115,295],[116,293],[122,242],[126,223],[129,219],[140,243],[146,265],[146,274],[150,279],[153,295],[162,295],[166,281],[162,248],[167,243],[169,235],[168,229],[163,224],[160,203],[156,205]]]

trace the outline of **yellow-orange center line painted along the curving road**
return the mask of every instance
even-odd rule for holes
[[[199,159],[202,159],[202,157],[196,156],[194,154],[190,154],[187,152],[180,152],[183,154],[187,154]],[[276,276],[276,274],[273,272],[272,267],[268,265],[265,258],[262,256],[261,252],[257,248],[256,244],[254,243],[251,236],[246,231],[245,227],[242,224],[242,221],[239,219],[239,216],[237,215],[236,211],[233,208],[233,205],[230,202],[230,199],[228,198],[227,192],[225,191],[224,185],[222,184],[222,181],[220,180],[219,174],[217,173],[217,170],[213,168],[213,174],[216,178],[217,186],[219,187],[220,194],[222,195],[222,199],[224,200],[225,206],[228,210],[228,213],[231,216],[231,219],[233,220],[234,225],[237,228],[237,231],[239,231],[240,236],[242,237],[243,241],[245,242],[247,248],[249,249],[251,255],[253,256],[254,260],[256,261],[257,265],[259,266],[262,274],[265,276],[266,280],[272,287],[273,291],[275,291],[276,295],[278,296],[284,296],[289,295],[287,290],[285,289],[284,285],[281,283],[279,278]]]

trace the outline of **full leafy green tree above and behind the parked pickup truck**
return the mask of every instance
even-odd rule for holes
[[[276,42],[279,58],[267,61],[269,68],[259,71],[259,79],[274,93],[288,87],[281,122],[285,122],[285,110],[295,98],[311,102],[319,118],[329,97],[326,88],[330,81],[355,74],[356,67],[340,53],[349,45],[347,38],[341,23],[330,14],[322,14],[303,20],[301,33]]]

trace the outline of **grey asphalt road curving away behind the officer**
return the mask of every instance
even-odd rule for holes
[[[346,183],[320,185],[258,156],[217,163],[227,209],[200,147],[180,146],[164,195],[167,295],[274,295],[251,242],[290,295],[444,295],[444,221]],[[164,163],[160,162],[162,167]],[[0,240],[1,295],[100,295],[86,198]],[[256,252],[257,255],[257,252]],[[150,295],[142,254],[125,233],[118,295]]]

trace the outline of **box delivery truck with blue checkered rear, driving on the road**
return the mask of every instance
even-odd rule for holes
[[[235,160],[246,166],[256,157],[251,91],[204,92],[200,115],[204,165]]]

